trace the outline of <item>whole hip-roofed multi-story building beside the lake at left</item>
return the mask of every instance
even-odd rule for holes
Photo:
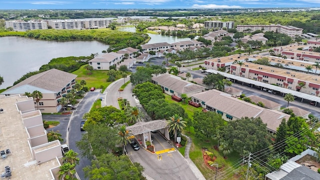
[[[58,69],[50,69],[13,85],[0,94],[5,96],[32,93],[38,90],[42,93],[42,98],[38,103],[34,101],[35,108],[41,112],[58,112],[62,105],[59,103],[61,97],[65,97],[73,89],[76,75]]]

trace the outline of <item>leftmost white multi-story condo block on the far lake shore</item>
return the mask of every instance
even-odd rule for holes
[[[33,29],[47,29],[48,25],[45,21],[42,20],[9,20],[5,21],[5,28],[12,27],[16,31],[26,31]]]

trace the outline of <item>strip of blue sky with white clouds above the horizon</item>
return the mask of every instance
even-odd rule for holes
[[[320,7],[320,0],[0,0],[0,9]]]

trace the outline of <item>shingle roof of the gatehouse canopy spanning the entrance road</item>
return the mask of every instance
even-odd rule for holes
[[[130,130],[133,135],[137,135],[142,134],[144,132],[165,128],[166,126],[167,122],[165,119],[151,120],[147,122],[137,122],[133,125],[127,126],[126,130]]]

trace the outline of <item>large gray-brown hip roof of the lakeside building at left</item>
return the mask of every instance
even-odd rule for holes
[[[18,88],[18,87],[36,87],[40,92],[41,89],[45,89],[51,92],[59,92],[62,88],[64,88],[68,83],[70,83],[73,79],[75,79],[77,75],[71,74],[69,72],[64,72],[62,70],[58,69],[50,69],[46,70],[44,72],[32,75],[31,77],[13,85],[9,89],[2,92],[2,94],[8,93],[9,91],[13,89],[20,89],[21,92],[24,93],[26,91],[23,91],[24,88]],[[47,92],[48,92],[47,91]],[[45,93],[45,92],[42,92]]]

